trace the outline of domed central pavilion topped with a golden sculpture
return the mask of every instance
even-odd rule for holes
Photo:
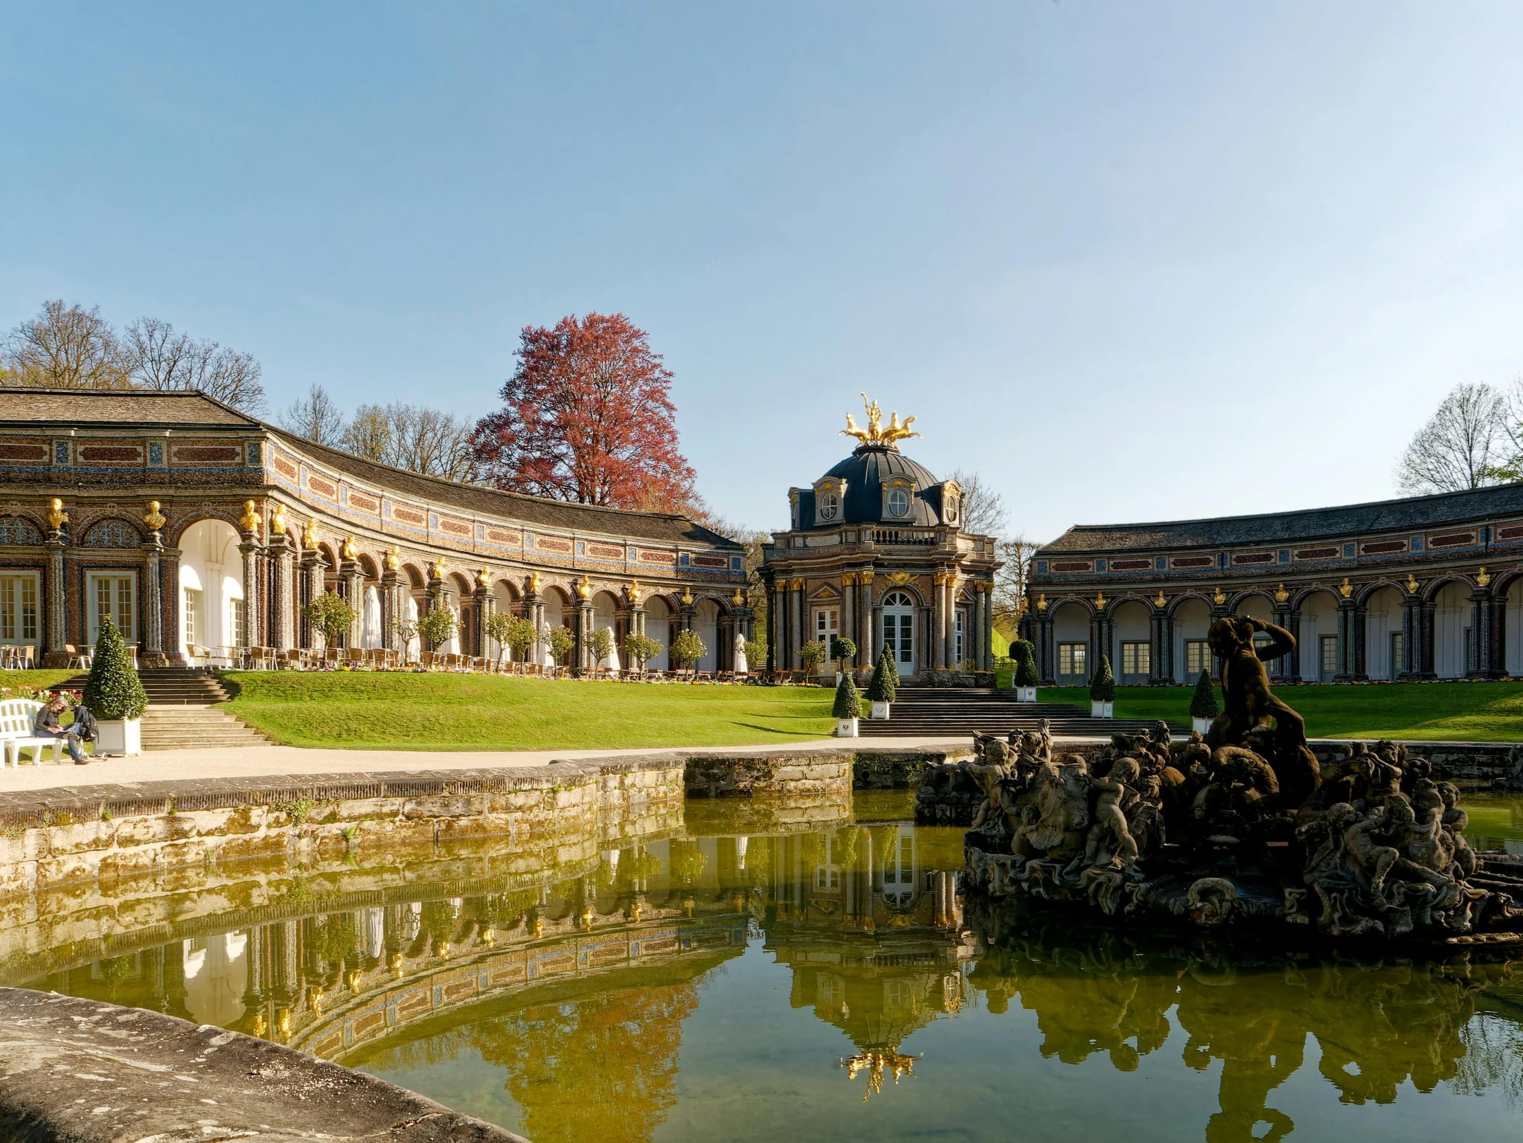
[[[963,531],[963,490],[899,451],[914,417],[867,426],[847,414],[857,447],[807,489],[789,489],[789,530],[772,534],[768,670],[801,668],[800,653],[832,636],[851,639],[856,665],[892,648],[902,679],[988,670],[995,537]]]

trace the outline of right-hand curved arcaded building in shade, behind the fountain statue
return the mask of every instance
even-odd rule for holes
[[[1523,674],[1523,486],[1336,508],[1080,525],[1036,552],[1022,630],[1042,679],[1109,654],[1122,683],[1215,670],[1211,621],[1296,636],[1282,682]]]

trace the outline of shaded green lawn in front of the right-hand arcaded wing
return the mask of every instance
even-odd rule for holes
[[[1193,686],[1118,686],[1118,718],[1189,723]],[[1523,682],[1276,686],[1311,738],[1523,741]],[[1037,699],[1089,706],[1081,686],[1043,686]],[[1220,700],[1220,691],[1218,691]]]

